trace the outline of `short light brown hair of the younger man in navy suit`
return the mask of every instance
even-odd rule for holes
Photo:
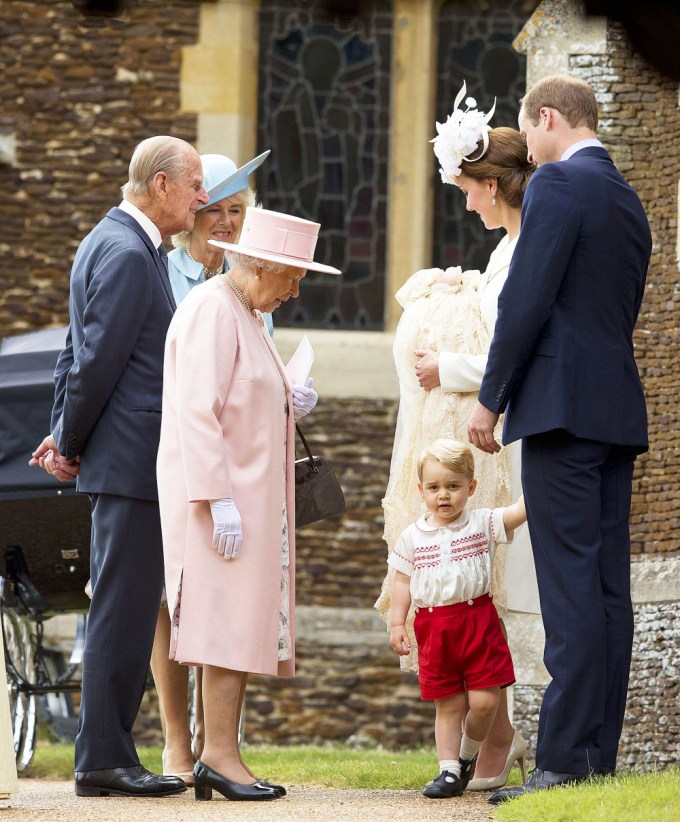
[[[554,108],[572,128],[597,129],[597,100],[592,87],[577,77],[554,74],[544,77],[521,100],[524,113],[536,124],[541,109]]]

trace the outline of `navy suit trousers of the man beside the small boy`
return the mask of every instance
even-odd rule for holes
[[[552,681],[536,765],[585,774],[616,766],[633,645],[631,486],[636,451],[566,431],[527,437],[522,485]]]

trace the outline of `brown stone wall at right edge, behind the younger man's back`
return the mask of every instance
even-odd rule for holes
[[[635,348],[649,412],[650,450],[637,463],[631,532],[635,553],[677,551],[680,524],[680,334],[678,280],[678,83],[648,66],[619,25],[607,27],[604,54],[570,58],[600,104],[598,136],[640,195],[653,236]]]

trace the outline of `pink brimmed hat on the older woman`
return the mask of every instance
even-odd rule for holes
[[[220,240],[208,242],[226,251],[236,251],[261,260],[321,271],[324,274],[340,274],[340,270],[331,265],[314,262],[314,249],[320,228],[320,223],[313,223],[311,220],[248,206],[238,243],[223,243]]]

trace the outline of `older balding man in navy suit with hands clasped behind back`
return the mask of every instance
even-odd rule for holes
[[[52,435],[33,455],[57,478],[79,472],[92,501],[92,603],[76,737],[79,796],[166,796],[176,777],[139,763],[139,710],[163,587],[156,456],[163,349],[175,310],[162,241],[208,202],[197,152],[151,137],[132,156],[123,202],[82,241],[70,324],[55,369]]]

